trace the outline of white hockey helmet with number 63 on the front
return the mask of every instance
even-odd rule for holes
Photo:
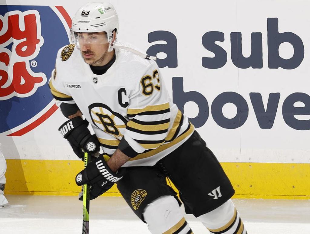
[[[106,43],[109,43],[108,51],[112,51],[113,31],[116,29],[117,35],[118,24],[118,16],[112,4],[108,2],[89,2],[82,6],[72,19],[71,39],[80,49],[78,33],[106,32]],[[91,42],[88,41],[88,43]]]

